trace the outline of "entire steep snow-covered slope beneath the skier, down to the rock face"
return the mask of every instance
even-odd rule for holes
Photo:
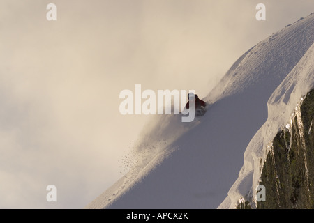
[[[311,14],[241,56],[202,118],[154,116],[130,171],[85,208],[234,208],[252,197],[267,142],[313,87],[313,42]]]

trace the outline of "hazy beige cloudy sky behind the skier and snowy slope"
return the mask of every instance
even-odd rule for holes
[[[57,6],[47,21],[46,6]],[[257,3],[267,20],[255,20]],[[151,116],[120,91],[204,97],[241,54],[312,0],[1,0],[0,208],[82,208],[122,175]],[[57,202],[47,202],[47,185]]]

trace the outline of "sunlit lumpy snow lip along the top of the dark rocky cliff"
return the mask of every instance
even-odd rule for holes
[[[228,197],[219,208],[234,208],[241,197],[254,201],[260,179],[260,164],[269,151],[269,144],[285,126],[289,126],[292,114],[297,112],[302,97],[314,88],[314,44],[297,63],[297,66],[278,86],[267,102],[268,118],[255,134],[244,153],[244,166]],[[262,162],[260,160],[262,158]],[[253,182],[248,182],[253,178]]]

